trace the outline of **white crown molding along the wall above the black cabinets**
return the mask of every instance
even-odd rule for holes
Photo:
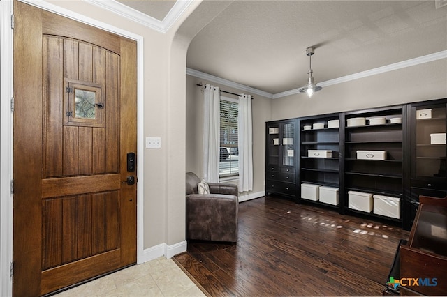
[[[416,66],[419,64],[423,64],[423,63],[428,63],[428,62],[432,62],[432,61],[437,61],[437,60],[441,60],[441,59],[447,59],[447,50],[441,51],[441,52],[435,52],[434,54],[427,54],[425,56],[418,56],[417,58],[414,59],[409,59],[409,60],[405,60],[402,62],[397,62],[397,63],[393,63],[387,66],[382,66],[382,67],[378,67],[378,68],[373,68],[370,70],[365,70],[362,71],[360,73],[354,73],[352,75],[346,75],[343,77],[338,77],[335,79],[330,79],[330,80],[326,80],[325,82],[320,82],[318,83],[318,86],[321,87],[325,87],[325,86],[332,86],[334,84],[342,84],[343,82],[349,82],[351,80],[355,80],[355,79],[360,79],[363,77],[369,77],[372,75],[378,75],[381,73],[388,73],[389,71],[393,71],[393,70],[397,70],[397,69],[402,69],[402,68],[406,68],[406,67],[411,67],[411,66]],[[300,93],[298,89],[293,89],[290,91],[284,91],[281,93],[276,93],[273,95],[273,99],[276,98],[281,98],[281,97],[286,97],[286,96],[290,96],[290,95],[294,95],[297,93]]]

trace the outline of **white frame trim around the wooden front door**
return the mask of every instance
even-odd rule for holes
[[[41,0],[19,0],[37,8],[68,17],[72,20],[89,24],[99,29],[124,36],[137,43],[137,168],[138,179],[143,181],[143,38],[135,33],[119,29],[110,24],[73,13],[71,10],[55,6]],[[13,261],[13,195],[10,192],[13,178],[13,30],[11,15],[13,0],[0,1],[0,296],[12,296],[13,283],[10,278],[10,263]],[[143,257],[143,183],[137,185],[137,262],[142,263]]]

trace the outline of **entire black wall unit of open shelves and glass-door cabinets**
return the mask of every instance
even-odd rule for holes
[[[425,112],[430,116],[421,117]],[[365,118],[366,125],[347,125],[348,120],[358,117]],[[386,123],[370,125],[371,119],[377,117],[385,118]],[[392,122],[395,118],[402,118],[402,123]],[[328,121],[335,119],[339,119],[339,128],[328,128]],[[267,122],[265,193],[292,198],[297,203],[329,206],[340,214],[381,220],[410,230],[420,195],[447,195],[446,144],[433,143],[430,137],[447,131],[446,119],[444,98]],[[304,129],[314,123],[325,126]],[[288,129],[291,127],[293,130]],[[293,132],[284,135],[286,131]],[[284,138],[293,138],[293,144],[291,140],[284,143]],[[332,150],[332,157],[309,158],[309,149]],[[357,158],[356,151],[368,150],[387,151],[387,158]],[[339,206],[301,199],[302,183],[339,188]],[[399,205],[394,207],[399,215],[349,208],[349,191],[398,199]]]

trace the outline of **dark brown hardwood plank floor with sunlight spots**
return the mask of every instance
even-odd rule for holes
[[[400,227],[268,196],[239,208],[237,245],[189,242],[174,261],[208,296],[381,296]]]

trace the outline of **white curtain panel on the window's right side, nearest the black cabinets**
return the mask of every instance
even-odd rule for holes
[[[239,151],[239,192],[253,190],[253,123],[251,95],[239,96],[237,115],[237,142]]]

